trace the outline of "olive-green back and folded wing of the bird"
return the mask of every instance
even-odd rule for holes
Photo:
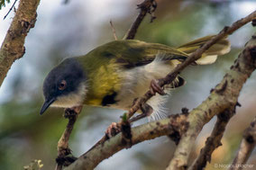
[[[147,43],[141,40],[114,40],[100,46],[94,54],[96,58],[114,59],[123,68],[140,67],[151,63],[158,55],[162,60],[184,60],[187,53],[158,43]]]

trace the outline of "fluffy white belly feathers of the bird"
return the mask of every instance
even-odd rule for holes
[[[123,110],[131,108],[133,100],[141,97],[150,89],[152,79],[166,76],[173,68],[174,65],[155,59],[151,64],[127,70],[123,73],[123,87],[116,97],[117,103],[114,107]],[[166,97],[157,94],[148,103],[156,111],[159,110],[160,104],[166,101]]]

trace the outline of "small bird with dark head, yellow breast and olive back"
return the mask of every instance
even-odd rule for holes
[[[114,40],[92,49],[86,55],[65,58],[50,70],[43,82],[44,103],[41,112],[50,106],[76,108],[82,105],[128,110],[134,99],[157,93],[148,102],[151,113],[160,119],[169,111],[164,107],[170,92],[185,85],[177,76],[171,85],[160,87],[158,79],[166,76],[191,53],[215,35],[193,40],[178,48],[142,40]],[[195,65],[215,63],[217,56],[230,51],[226,38],[219,40],[195,61]]]

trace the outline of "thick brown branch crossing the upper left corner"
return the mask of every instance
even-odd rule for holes
[[[36,22],[36,10],[40,0],[21,0],[14,20],[5,35],[0,49],[0,86],[5,76],[18,58],[25,53],[24,40]]]

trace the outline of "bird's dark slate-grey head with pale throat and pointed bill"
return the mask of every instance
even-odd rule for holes
[[[86,94],[86,75],[77,58],[67,58],[54,67],[43,82],[45,102],[41,112],[51,105],[71,108],[81,105]]]

